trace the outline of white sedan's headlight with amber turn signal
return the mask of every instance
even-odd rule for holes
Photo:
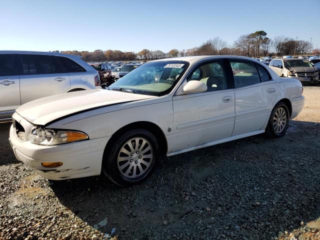
[[[28,135],[31,143],[39,145],[58,145],[66,142],[88,139],[88,135],[79,131],[32,128]]]

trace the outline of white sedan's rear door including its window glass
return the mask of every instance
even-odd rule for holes
[[[260,64],[229,59],[234,80],[235,121],[232,135],[259,130],[267,121],[277,86]]]

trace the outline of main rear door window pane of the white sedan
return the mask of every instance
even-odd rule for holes
[[[260,82],[255,64],[248,61],[230,60],[234,87],[248,86]]]

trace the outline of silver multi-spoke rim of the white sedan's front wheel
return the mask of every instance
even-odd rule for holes
[[[117,157],[120,173],[128,178],[143,174],[152,162],[152,147],[143,137],[134,137],[125,142]]]

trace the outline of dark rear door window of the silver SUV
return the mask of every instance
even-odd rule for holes
[[[50,55],[21,54],[21,74],[61,73],[63,70]]]

